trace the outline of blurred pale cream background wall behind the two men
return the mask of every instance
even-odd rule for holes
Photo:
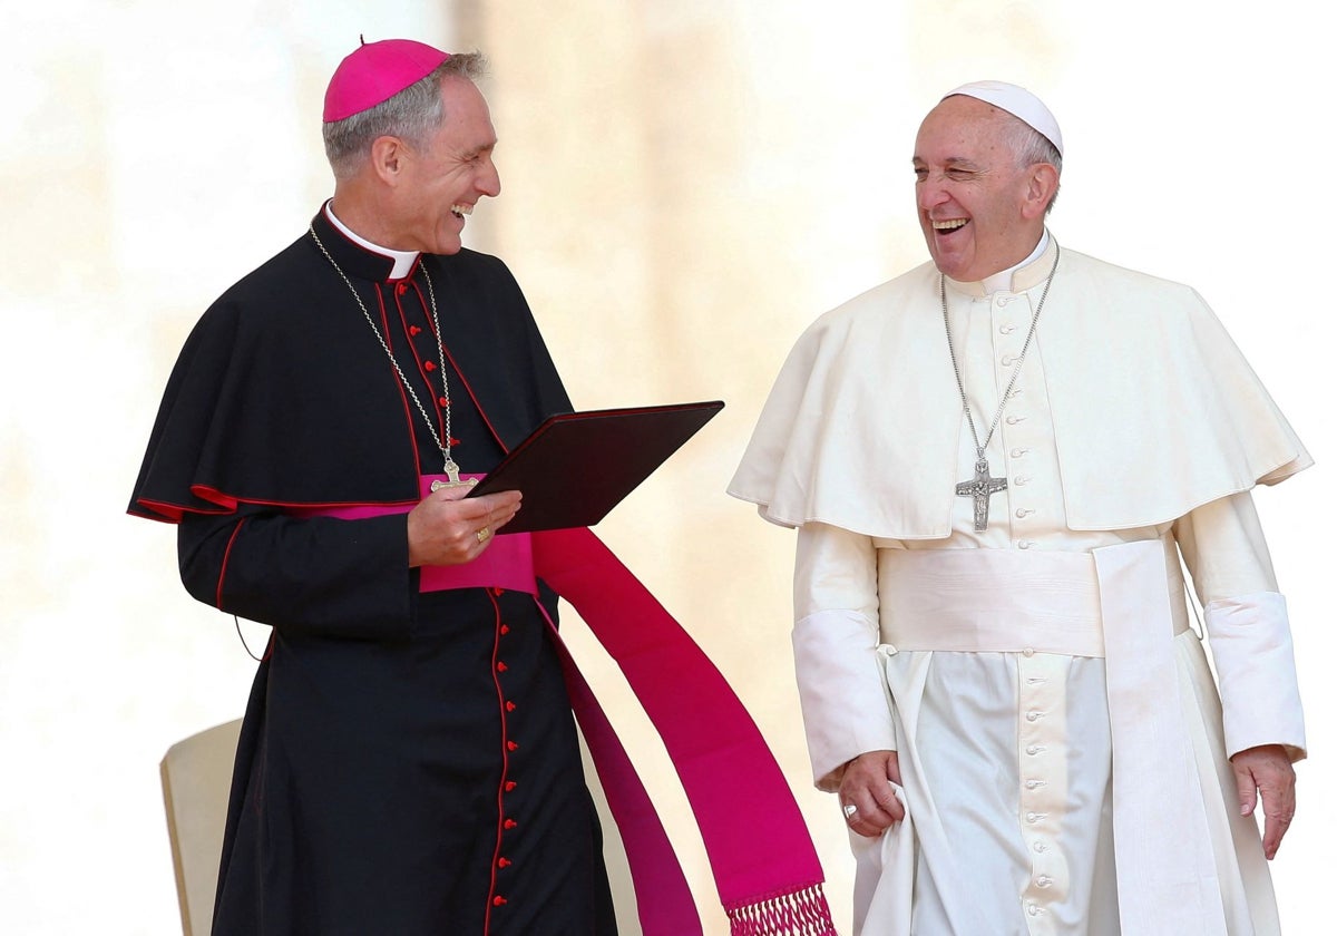
[[[842,925],[844,832],[809,789],[792,690],[792,539],[722,491],[802,326],[925,258],[909,172],[921,114],[977,78],[1044,96],[1068,146],[1059,239],[1198,286],[1321,463],[1258,496],[1314,751],[1274,865],[1285,919],[1306,932],[1337,873],[1324,670],[1337,646],[1320,603],[1334,457],[1337,205],[1320,138],[1332,15],[1186,0],[872,7],[5,4],[0,932],[176,925],[156,764],[241,713],[254,665],[231,620],[180,590],[171,531],[122,511],[195,317],[297,237],[329,190],[320,99],[358,32],[491,55],[504,193],[480,206],[469,241],[511,263],[578,405],[729,402],[600,534],[753,710],[808,812]],[[568,631],[723,932],[670,769],[615,673]],[[263,628],[247,635],[258,646]],[[725,793],[747,808],[745,789]]]

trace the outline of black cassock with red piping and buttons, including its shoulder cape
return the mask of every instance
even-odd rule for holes
[[[496,258],[392,263],[313,226],[453,456],[488,471],[570,412]],[[445,358],[431,320],[436,293]],[[130,512],[179,521],[198,599],[273,624],[233,778],[214,932],[612,933],[600,832],[535,600],[418,592],[405,516],[441,456],[310,234],[227,290],[171,374]],[[544,590],[556,614],[556,599]]]

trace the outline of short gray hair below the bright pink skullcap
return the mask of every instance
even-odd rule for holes
[[[445,112],[441,107],[441,84],[449,78],[476,82],[487,74],[481,52],[460,52],[432,70],[427,78],[382,100],[376,107],[321,124],[325,158],[336,179],[357,172],[380,136],[398,136],[414,146],[440,128]]]

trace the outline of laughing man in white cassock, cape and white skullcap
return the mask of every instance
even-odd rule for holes
[[[1312,460],[1195,291],[1060,247],[1062,158],[1016,86],[928,114],[932,263],[808,329],[730,493],[798,528],[856,932],[1275,933],[1305,734],[1250,489]]]

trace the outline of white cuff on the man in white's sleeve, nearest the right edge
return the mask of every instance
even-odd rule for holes
[[[1285,745],[1305,757],[1305,718],[1296,681],[1286,599],[1274,591],[1210,602],[1211,659],[1221,683],[1226,755],[1259,745]]]

